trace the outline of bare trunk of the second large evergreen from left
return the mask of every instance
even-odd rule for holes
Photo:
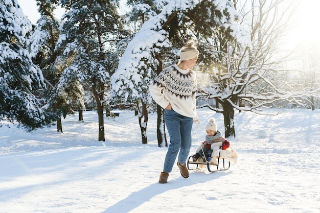
[[[92,91],[94,93],[94,97],[96,99],[97,102],[97,111],[98,111],[98,124],[99,124],[99,136],[98,136],[98,141],[105,141],[104,138],[104,122],[103,122],[103,102],[101,100],[103,100],[103,90],[104,90],[104,85],[100,85],[99,87],[99,93],[97,91],[96,85],[94,84],[95,80],[92,80],[93,85],[92,85]]]

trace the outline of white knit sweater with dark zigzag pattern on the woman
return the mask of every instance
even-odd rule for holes
[[[165,68],[151,83],[153,100],[162,108],[169,103],[177,113],[198,120],[196,113],[196,74],[177,65]]]

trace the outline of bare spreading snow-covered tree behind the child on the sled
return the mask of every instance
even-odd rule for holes
[[[216,106],[203,104],[223,113],[225,137],[235,136],[235,110],[262,113],[261,107],[288,100],[301,93],[287,92],[285,81],[279,81],[279,65],[283,58],[277,55],[277,44],[289,27],[292,5],[284,0],[238,1],[236,4],[242,27],[250,34],[250,48],[226,41],[218,33],[209,44],[219,54],[210,70],[211,82],[201,90],[204,99],[214,99]],[[282,10],[282,8],[285,8]]]

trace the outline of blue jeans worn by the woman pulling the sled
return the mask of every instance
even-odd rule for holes
[[[165,123],[170,136],[170,145],[164,163],[164,172],[171,172],[178,155],[178,162],[184,164],[191,148],[192,117],[180,115],[174,110],[165,110]]]

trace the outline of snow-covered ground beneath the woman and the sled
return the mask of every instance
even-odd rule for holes
[[[209,117],[224,133],[221,113],[197,111],[190,155]],[[84,122],[67,116],[63,134],[56,126],[2,126],[0,212],[319,212],[320,111],[266,111],[282,113],[235,114],[237,137],[228,140],[238,163],[230,170],[191,171],[185,179],[174,165],[167,184],[158,183],[167,148],[157,147],[156,113],[149,114],[148,145],[138,116],[127,110],[105,117],[105,142],[98,141],[95,111],[84,112]]]

